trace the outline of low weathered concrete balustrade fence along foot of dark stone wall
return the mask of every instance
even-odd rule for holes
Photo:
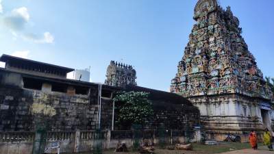
[[[161,134],[162,132],[162,134]],[[164,129],[139,129],[139,130],[103,130],[99,131],[47,131],[45,144],[42,149],[60,145],[61,153],[88,152],[100,145],[103,149],[115,148],[119,142],[125,142],[127,146],[134,146],[142,139],[149,139],[149,142],[160,144],[174,144],[187,140],[186,131]],[[37,137],[35,132],[0,132],[0,154],[8,151],[20,151],[18,154],[32,154],[37,148]],[[98,138],[100,137],[100,138]],[[100,143],[100,144],[98,144]],[[38,145],[40,147],[40,145]]]

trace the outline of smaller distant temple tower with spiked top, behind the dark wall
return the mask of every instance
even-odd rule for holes
[[[105,84],[110,86],[137,85],[136,70],[131,65],[110,61],[106,77]]]

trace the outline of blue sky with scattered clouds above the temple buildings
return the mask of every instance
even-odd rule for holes
[[[169,90],[196,0],[0,0],[0,54],[71,68],[105,80],[110,60],[132,64],[139,86]],[[258,66],[274,77],[273,0],[220,0],[240,20]]]

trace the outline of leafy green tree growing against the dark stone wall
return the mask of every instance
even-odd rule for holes
[[[144,125],[153,115],[148,92],[119,92],[115,95],[116,123],[123,126]]]

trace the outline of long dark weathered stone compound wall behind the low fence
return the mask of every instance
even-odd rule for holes
[[[36,124],[45,123],[49,131],[95,130],[98,116],[98,85],[88,85],[70,80],[58,80],[0,71],[0,131],[34,131]],[[26,88],[27,83],[40,85],[40,90]],[[64,82],[63,84],[60,82]],[[56,92],[68,85],[66,92]],[[79,86],[86,86],[86,94],[76,94]],[[101,98],[101,128],[112,128],[112,92],[121,89],[103,86]],[[59,90],[60,91],[60,90]],[[106,91],[106,92],[105,92]],[[84,92],[82,92],[84,93]],[[167,93],[167,92],[166,92]],[[157,94],[156,94],[157,95]],[[176,95],[176,94],[173,94]],[[177,95],[176,95],[177,96]],[[161,123],[170,129],[185,129],[199,125],[199,110],[182,100],[175,105],[167,100],[155,100],[152,119],[147,129],[156,129]],[[179,96],[177,96],[179,97]]]

